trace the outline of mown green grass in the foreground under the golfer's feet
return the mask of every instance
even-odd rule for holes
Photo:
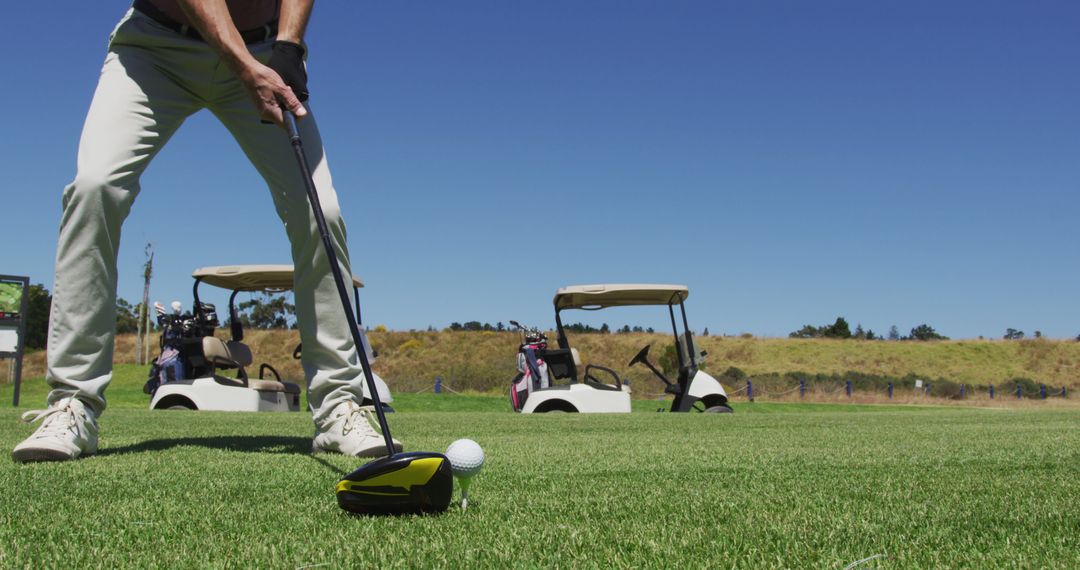
[[[1075,410],[456,398],[403,394],[390,421],[407,449],[484,446],[469,511],[393,518],[337,507],[360,462],[311,456],[307,413],[117,406],[97,457],[0,461],[0,567],[1080,567]],[[5,453],[16,420],[0,409]]]

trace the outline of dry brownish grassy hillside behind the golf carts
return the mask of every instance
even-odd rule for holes
[[[225,330],[218,334],[226,337]],[[430,388],[436,376],[455,390],[502,391],[516,372],[517,335],[513,332],[378,332],[370,334],[379,351],[376,371],[394,390]],[[257,362],[270,362],[283,375],[300,378],[292,357],[298,342],[295,331],[251,330],[245,341]],[[659,392],[659,382],[640,366],[626,363],[651,343],[656,362],[665,335],[576,335],[570,337],[585,363],[615,368],[629,377],[638,395]],[[802,372],[810,375],[877,375],[902,378],[916,375],[969,386],[998,386],[1022,378],[1052,386],[1080,388],[1080,342],[1054,340],[959,340],[934,342],[881,342],[853,340],[797,340],[701,337],[708,352],[707,369],[720,375],[738,367],[751,376]],[[134,362],[134,338],[121,336],[116,361]],[[8,370],[0,371],[6,380]],[[43,354],[27,357],[24,377],[44,374]],[[856,386],[858,388],[858,386]]]

